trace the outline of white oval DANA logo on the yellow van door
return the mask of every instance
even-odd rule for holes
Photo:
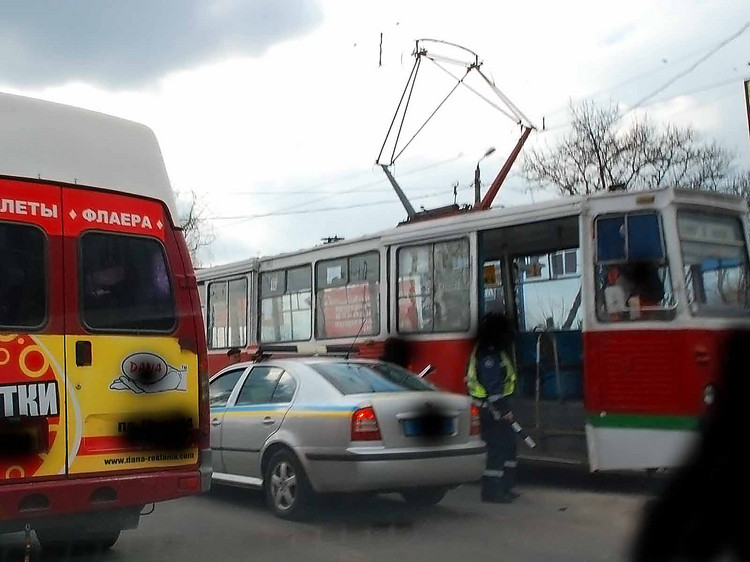
[[[128,355],[120,370],[122,374],[109,385],[112,390],[129,390],[136,394],[187,390],[187,367],[172,367],[155,353]]]

